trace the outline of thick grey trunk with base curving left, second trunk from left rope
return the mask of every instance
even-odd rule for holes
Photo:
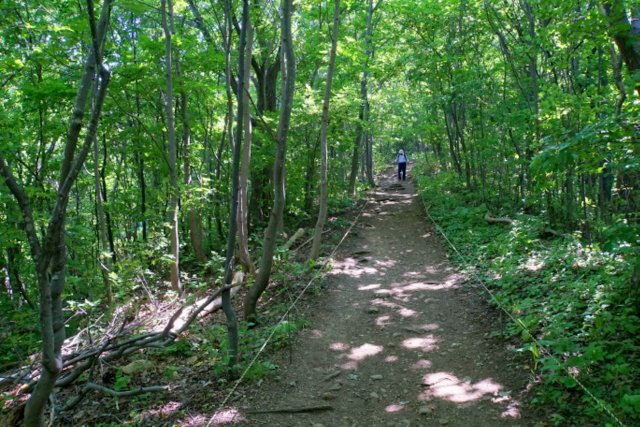
[[[244,304],[244,316],[248,321],[256,319],[256,305],[258,299],[269,284],[271,267],[273,265],[273,254],[276,248],[276,234],[278,224],[282,217],[285,204],[284,188],[284,167],[287,152],[287,135],[289,133],[289,123],[291,121],[291,110],[293,108],[293,93],[295,85],[295,58],[293,54],[292,32],[291,32],[291,3],[292,0],[282,0],[281,2],[281,52],[282,64],[282,99],[280,107],[280,120],[276,135],[276,159],[273,174],[274,201],[269,224],[264,234],[262,258],[260,259],[260,269],[256,281],[247,293]]]

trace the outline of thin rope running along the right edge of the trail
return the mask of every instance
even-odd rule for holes
[[[427,216],[429,217],[429,220],[436,227],[436,230],[438,230],[438,232],[442,235],[442,237],[444,237],[444,239],[447,241],[449,246],[451,246],[453,251],[460,257],[460,259],[462,260],[462,263],[465,266],[469,267],[471,265],[471,263],[467,260],[467,258],[464,255],[462,255],[462,253],[460,253],[460,251],[458,250],[458,248],[456,248],[456,246],[453,244],[453,242],[451,240],[449,240],[449,237],[444,232],[442,227],[440,227],[440,225],[438,225],[436,220],[433,219],[433,217],[429,213],[429,208],[425,204],[425,201],[424,201],[424,198],[422,197],[422,195],[420,196],[420,199],[422,200],[422,205],[424,206],[425,212],[427,213]],[[617,425],[619,425],[620,427],[626,427],[626,425],[622,421],[620,421],[620,419],[618,419],[618,417],[613,413],[613,411],[609,408],[609,406],[605,402],[603,402],[602,400],[598,399],[584,384],[582,384],[582,382],[580,382],[580,380],[578,378],[576,378],[575,376],[573,376],[571,374],[569,369],[566,366],[564,366],[562,364],[562,362],[554,354],[552,354],[549,350],[547,350],[547,348],[544,345],[540,344],[540,341],[538,341],[538,339],[533,335],[533,333],[529,330],[529,328],[526,327],[524,322],[522,322],[520,319],[516,319],[513,316],[513,314],[511,314],[510,311],[508,311],[506,308],[504,308],[504,306],[496,298],[495,294],[485,285],[484,280],[482,280],[482,278],[480,276],[478,276],[478,274],[476,274],[476,272],[473,269],[467,268],[467,270],[471,272],[471,275],[476,280],[476,282],[480,286],[482,286],[482,288],[484,288],[484,290],[491,297],[491,300],[496,303],[496,305],[500,308],[500,310],[502,310],[507,315],[507,317],[509,319],[511,319],[522,331],[524,331],[524,332],[526,332],[528,334],[528,336],[530,337],[531,341],[533,341],[533,343],[537,346],[537,349],[538,349],[539,353],[546,354],[549,358],[553,359],[558,364],[558,366],[562,366],[562,369],[567,373],[567,376],[569,378],[572,378],[576,382],[576,384],[578,384],[578,386],[587,394],[587,396],[589,396],[591,399],[593,399],[596,402],[598,407],[600,407],[602,410],[604,410],[604,412],[607,415],[609,415],[616,422]]]

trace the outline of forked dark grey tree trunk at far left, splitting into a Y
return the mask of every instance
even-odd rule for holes
[[[62,344],[64,342],[64,314],[61,294],[64,289],[65,268],[65,218],[69,194],[84,161],[91,150],[98,128],[102,106],[109,83],[109,73],[102,67],[101,49],[109,21],[111,0],[103,2],[102,13],[96,27],[93,15],[93,3],[88,2],[88,13],[92,35],[92,45],[87,56],[81,78],[73,114],[67,132],[64,157],[60,168],[59,187],[56,201],[46,231],[41,232],[41,240],[36,230],[31,202],[24,188],[14,178],[5,158],[0,155],[0,175],[9,190],[18,201],[23,217],[23,228],[36,264],[36,277],[40,291],[40,327],[42,333],[42,372],[25,407],[24,423],[27,426],[39,426],[44,422],[43,415],[50,393],[62,369]],[[96,76],[98,73],[98,76]],[[95,102],[92,104],[89,126],[80,150],[78,140],[83,124],[87,98],[91,88],[99,84]]]

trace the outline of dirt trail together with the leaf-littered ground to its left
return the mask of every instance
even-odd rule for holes
[[[355,215],[340,216],[346,223]],[[139,353],[127,367],[103,367],[108,387],[165,382],[166,393],[93,394],[55,425],[546,425],[524,403],[526,361],[495,337],[499,313],[447,259],[410,176],[400,182],[389,169],[379,177],[330,266],[292,310],[309,327],[281,349],[268,347],[257,378],[231,382],[212,365],[212,338],[202,334],[224,330],[218,312],[169,355]],[[291,279],[271,286],[274,300],[263,305],[289,306],[303,286]],[[137,373],[126,370],[135,364]]]

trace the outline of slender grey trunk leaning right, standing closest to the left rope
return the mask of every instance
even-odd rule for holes
[[[327,84],[324,89],[324,101],[322,103],[322,119],[320,122],[320,210],[318,221],[313,235],[313,243],[309,259],[315,259],[320,254],[320,243],[322,242],[322,231],[327,220],[327,199],[328,182],[327,174],[329,169],[329,156],[327,148],[327,131],[329,128],[329,101],[331,100],[331,81],[333,79],[333,69],[336,63],[336,49],[338,46],[338,25],[340,23],[340,0],[335,0],[333,8],[333,29],[331,31],[331,51],[329,53],[329,66],[327,68]]]

